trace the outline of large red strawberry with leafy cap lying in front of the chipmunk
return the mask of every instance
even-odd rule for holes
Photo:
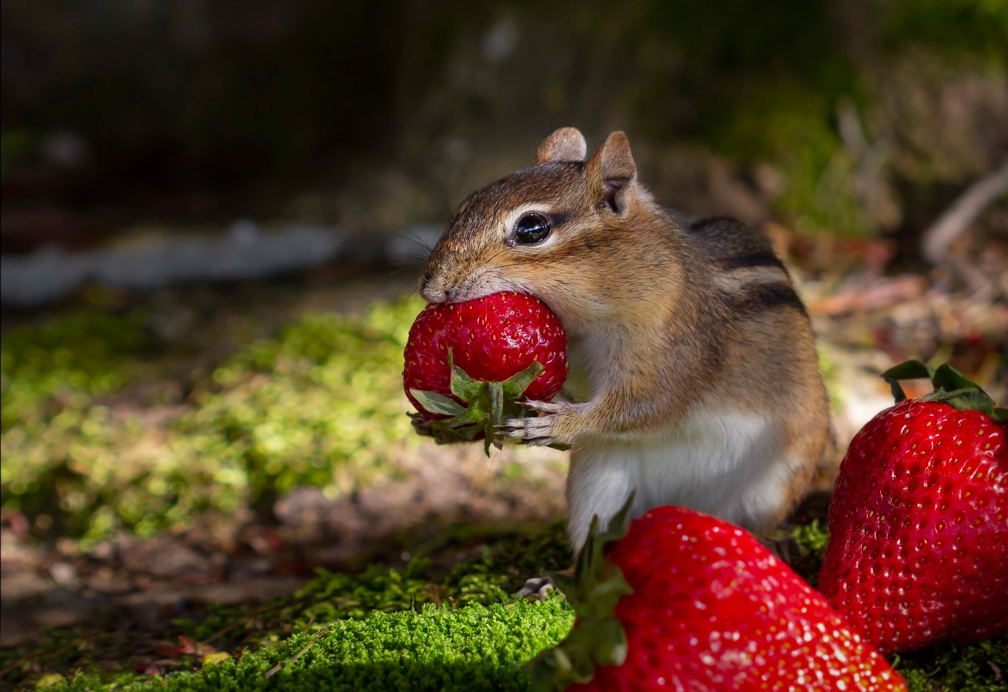
[[[578,619],[528,665],[532,690],[905,692],[885,659],[751,535],[674,506],[626,533],[629,506],[601,536],[593,524],[575,583],[558,582]]]

